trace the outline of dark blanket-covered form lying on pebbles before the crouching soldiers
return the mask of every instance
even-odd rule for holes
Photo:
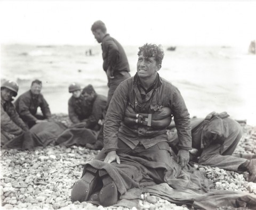
[[[87,128],[67,129],[59,122],[41,122],[35,124],[29,131],[6,142],[3,149],[32,150],[37,146],[47,145],[85,146],[97,140],[97,132]]]

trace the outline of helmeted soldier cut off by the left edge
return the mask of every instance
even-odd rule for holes
[[[1,146],[29,130],[12,104],[12,97],[17,96],[18,89],[17,83],[10,80],[1,86]]]

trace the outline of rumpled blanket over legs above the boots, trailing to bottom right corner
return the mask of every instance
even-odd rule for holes
[[[200,209],[214,209],[218,206],[256,207],[256,196],[238,191],[212,190],[213,182],[194,167],[187,166],[177,179],[168,179],[157,175],[156,170],[168,170],[161,162],[146,161],[140,157],[119,155],[121,164],[108,164],[93,160],[87,163],[96,169],[104,169],[114,180],[120,198],[115,206],[140,209],[140,195],[149,192],[177,205],[187,204]],[[165,180],[165,181],[164,181]],[[165,183],[164,183],[165,182]],[[95,203],[97,204],[97,202]]]

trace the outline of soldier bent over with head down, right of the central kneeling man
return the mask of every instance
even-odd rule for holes
[[[191,161],[230,171],[248,171],[248,181],[256,182],[256,155],[233,155],[243,135],[239,123],[230,119],[226,112],[212,112],[205,119],[191,119],[191,127]],[[175,128],[168,133],[168,140],[175,149],[178,144]]]

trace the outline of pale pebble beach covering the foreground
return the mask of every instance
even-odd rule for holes
[[[69,125],[65,114],[55,120]],[[256,154],[256,127],[241,123],[244,135],[235,153]],[[91,203],[71,202],[71,188],[81,178],[83,166],[99,151],[84,147],[47,146],[33,151],[1,150],[1,204],[3,209],[124,209]],[[256,195],[256,183],[247,182],[247,172],[237,173],[218,167],[195,165],[214,182],[217,190],[244,191]],[[190,209],[150,194],[141,195],[140,209]],[[132,210],[137,208],[133,207]],[[235,209],[219,208],[219,209]],[[139,210],[139,209],[137,209]]]

